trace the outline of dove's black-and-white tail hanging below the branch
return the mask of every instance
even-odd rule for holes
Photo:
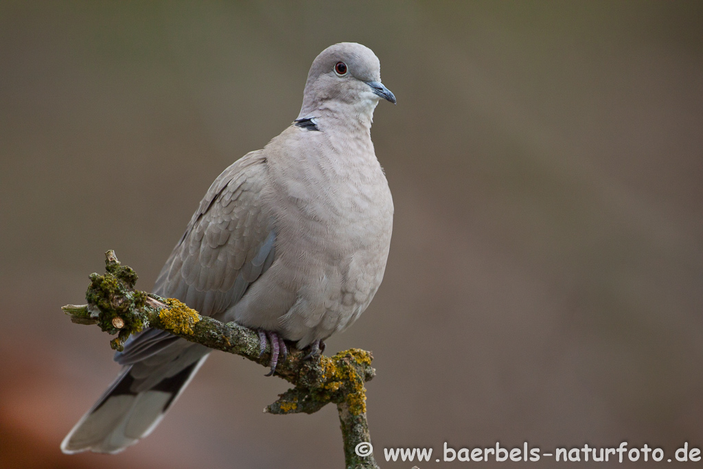
[[[135,390],[133,365],[122,368],[103,397],[63,439],[67,454],[91,450],[118,453],[156,428],[170,406],[190,383],[207,355],[146,390]]]

